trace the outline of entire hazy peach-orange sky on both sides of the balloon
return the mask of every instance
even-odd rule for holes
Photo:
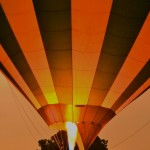
[[[0,146],[3,150],[36,150],[49,129],[30,103],[0,72]],[[110,150],[149,150],[150,90],[115,116],[99,133]],[[144,147],[143,147],[144,146]]]

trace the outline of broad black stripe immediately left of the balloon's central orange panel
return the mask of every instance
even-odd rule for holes
[[[62,102],[66,99],[69,102],[73,100],[71,1],[33,0],[33,5],[58,101]],[[57,90],[58,87],[68,88],[63,92],[64,98],[62,93]],[[68,93],[68,91],[70,92]],[[73,101],[70,102],[72,104]]]

